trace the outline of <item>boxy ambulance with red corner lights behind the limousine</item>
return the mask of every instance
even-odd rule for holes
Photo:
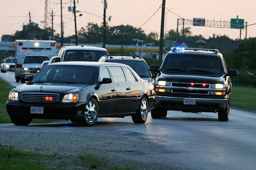
[[[49,60],[57,54],[56,41],[17,39],[14,44],[16,46],[14,68],[16,82],[24,83],[25,76],[36,74],[44,60]],[[24,61],[25,58],[29,60]]]

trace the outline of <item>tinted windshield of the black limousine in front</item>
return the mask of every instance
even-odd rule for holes
[[[76,65],[47,65],[31,83],[95,84],[98,67]]]

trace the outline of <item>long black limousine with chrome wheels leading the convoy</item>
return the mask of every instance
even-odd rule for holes
[[[7,112],[15,125],[32,119],[70,119],[92,126],[98,117],[132,116],[145,123],[154,107],[151,82],[118,63],[60,62],[45,66],[11,90]]]

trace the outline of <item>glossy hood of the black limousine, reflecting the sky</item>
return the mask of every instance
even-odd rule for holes
[[[41,93],[70,93],[78,92],[82,88],[86,88],[91,85],[86,84],[63,84],[63,83],[35,83],[35,84],[23,84],[14,88],[17,92],[41,92]]]

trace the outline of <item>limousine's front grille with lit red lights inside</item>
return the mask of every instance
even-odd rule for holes
[[[56,102],[59,94],[54,93],[22,93],[22,101],[24,102]]]

